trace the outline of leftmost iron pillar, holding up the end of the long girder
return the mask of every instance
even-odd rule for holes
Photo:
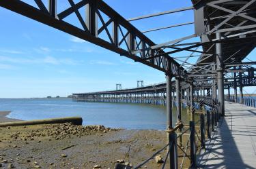
[[[172,101],[171,101],[171,75],[166,75],[167,80],[167,89],[166,89],[166,100],[167,100],[167,131],[171,130],[173,128],[173,119],[172,119]],[[171,144],[175,139],[173,140],[173,134],[170,132],[167,132],[167,143],[170,144],[169,146],[169,160],[170,160],[170,168],[176,169],[177,168],[177,149],[173,148],[173,145]]]

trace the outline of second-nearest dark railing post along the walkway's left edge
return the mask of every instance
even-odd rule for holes
[[[197,155],[196,155],[196,146],[195,146],[195,122],[190,121],[190,166],[195,168],[197,166]]]

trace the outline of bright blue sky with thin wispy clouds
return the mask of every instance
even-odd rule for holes
[[[27,0],[33,5],[33,1]],[[66,4],[58,1],[59,9]],[[77,1],[74,1],[77,2]],[[190,1],[106,0],[124,18],[190,6]],[[134,5],[136,4],[136,5]],[[77,24],[76,18],[67,18]],[[193,12],[180,12],[134,21],[140,31],[193,22]],[[164,73],[119,56],[50,26],[0,7],[0,98],[67,96],[72,92],[114,90],[165,81]],[[146,33],[155,43],[194,33],[193,25]],[[255,52],[253,52],[255,54]],[[251,54],[251,59],[253,59]],[[186,52],[174,56],[184,56]],[[193,60],[190,60],[193,62]]]

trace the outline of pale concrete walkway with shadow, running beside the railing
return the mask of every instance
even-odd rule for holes
[[[256,109],[225,102],[225,118],[199,155],[201,168],[256,168]]]

